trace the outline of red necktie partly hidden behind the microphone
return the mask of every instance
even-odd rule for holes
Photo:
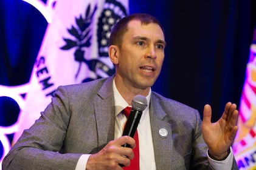
[[[129,106],[123,110],[123,114],[125,114],[127,118],[129,117],[130,112],[131,107]],[[135,132],[133,139],[136,141],[136,147],[133,148],[134,159],[131,160],[130,166],[123,167],[124,170],[139,170],[139,137],[137,131]]]

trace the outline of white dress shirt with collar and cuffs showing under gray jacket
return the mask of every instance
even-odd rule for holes
[[[117,139],[118,137],[122,136],[123,126],[126,122],[126,117],[121,112],[128,103],[123,99],[121,94],[116,88],[116,84],[113,83],[113,90],[114,90],[114,102],[115,102],[115,133],[114,138]],[[140,152],[140,170],[156,170],[156,163],[154,161],[154,147],[152,141],[152,134],[151,134],[151,126],[150,126],[150,114],[149,114],[149,105],[150,105],[150,97],[151,97],[151,89],[147,96],[148,106],[143,111],[142,117],[140,118],[139,125],[137,127],[137,132],[139,136],[139,152]],[[81,155],[80,159],[77,162],[77,166],[75,170],[85,170],[86,163],[88,158],[91,154],[83,154]],[[213,160],[209,157],[207,152],[208,160],[210,165],[216,169],[232,169],[233,165],[233,151],[230,147],[230,154],[229,156],[223,161]]]

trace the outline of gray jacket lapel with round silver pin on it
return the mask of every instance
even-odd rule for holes
[[[153,93],[150,101],[150,123],[156,169],[171,169],[173,150],[171,123]]]

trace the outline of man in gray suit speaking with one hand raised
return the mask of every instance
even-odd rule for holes
[[[140,170],[238,169],[231,148],[238,129],[234,103],[228,102],[220,120],[211,123],[209,105],[201,121],[197,110],[151,91],[164,48],[156,18],[134,14],[121,19],[109,38],[116,74],[59,87],[7,154],[3,169],[125,169],[137,146],[132,137],[122,136],[122,110],[137,94],[148,101],[137,128]]]

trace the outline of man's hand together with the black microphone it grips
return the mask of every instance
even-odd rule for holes
[[[142,111],[144,111],[146,107],[146,97],[138,95],[133,98],[130,116],[128,117],[122,136],[134,137],[137,126],[139,125],[140,117],[142,116]],[[124,137],[119,137],[118,139],[110,141],[103,149],[89,157],[86,167],[95,168],[95,166],[97,166],[101,169],[119,169],[120,167],[118,168],[114,166],[116,162],[119,163],[119,166],[121,167],[123,167],[123,165],[128,166],[128,160],[124,158],[120,159],[120,155],[123,155],[123,157],[127,157],[130,160],[132,159],[132,153],[124,151],[127,148],[122,148],[122,151],[120,151],[120,145],[130,147],[127,143],[124,144],[125,142],[132,143],[131,139]]]

